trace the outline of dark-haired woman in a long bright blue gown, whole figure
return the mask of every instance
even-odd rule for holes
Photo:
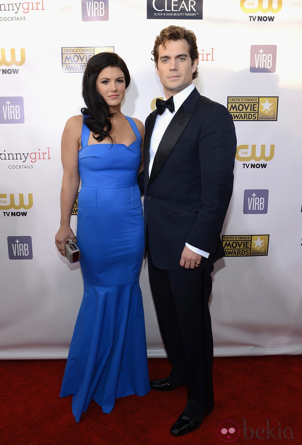
[[[130,75],[115,53],[91,57],[82,115],[62,135],[61,224],[56,247],[76,241],[70,215],[78,196],[77,244],[84,296],[60,396],[72,397],[77,422],[94,399],[110,413],[117,397],[150,390],[139,272],[144,250],[137,175],[144,125],[121,113]]]

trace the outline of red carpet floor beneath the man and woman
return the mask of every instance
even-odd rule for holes
[[[173,437],[169,429],[185,406],[185,388],[117,399],[111,414],[93,401],[77,424],[71,397],[59,397],[65,360],[2,360],[0,443],[302,444],[301,365],[301,356],[215,358],[213,413],[197,431]],[[151,380],[169,369],[168,360],[149,359]],[[218,437],[220,424],[227,433]]]

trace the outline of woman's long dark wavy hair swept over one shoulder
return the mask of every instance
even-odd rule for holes
[[[110,131],[112,128],[109,106],[105,99],[97,92],[96,81],[97,76],[105,68],[119,68],[125,77],[126,88],[130,83],[130,74],[127,65],[116,53],[99,53],[89,59],[82,81],[82,96],[86,107],[81,109],[81,113],[85,116],[85,124],[93,133],[93,138],[97,142],[109,138],[112,142]],[[96,137],[95,134],[98,136]]]

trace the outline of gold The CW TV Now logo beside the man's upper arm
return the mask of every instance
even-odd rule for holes
[[[274,158],[275,146],[270,144],[270,149],[265,144],[261,144],[260,149],[255,144],[238,145],[235,158],[243,162],[243,168],[266,168],[267,164],[261,161],[271,161]],[[258,161],[257,163],[247,163],[248,161]]]

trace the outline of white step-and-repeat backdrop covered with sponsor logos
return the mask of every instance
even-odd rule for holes
[[[170,24],[196,33],[194,83],[228,107],[238,137],[226,257],[213,272],[214,353],[302,353],[301,17],[293,0],[1,2],[0,358],[67,356],[83,284],[54,244],[61,134],[101,51],[126,61],[122,111],[145,121],[163,96],[154,38]],[[141,288],[149,356],[164,356],[145,261]]]

